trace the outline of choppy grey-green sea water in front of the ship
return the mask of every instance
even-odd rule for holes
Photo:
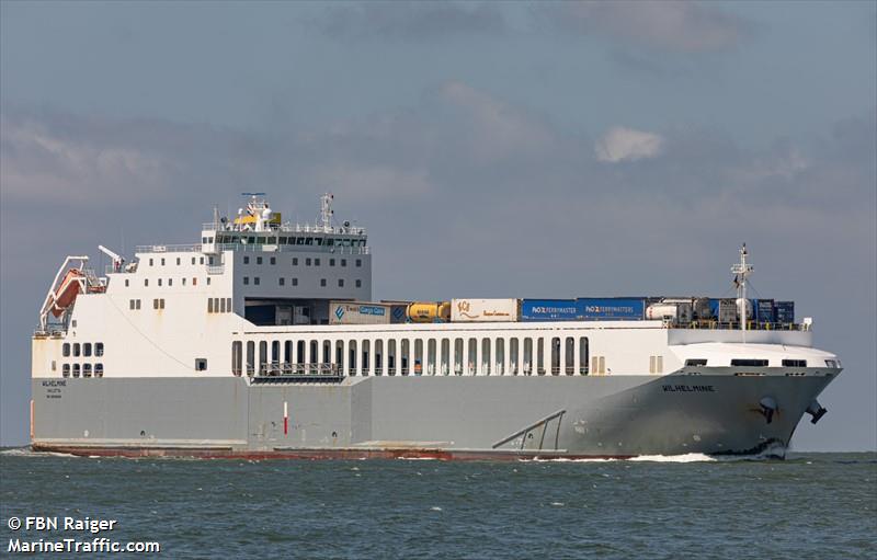
[[[98,459],[0,453],[16,516],[117,519],[167,558],[877,558],[877,454],[785,461]],[[53,555],[62,557],[64,555]],[[123,557],[126,555],[123,555]]]

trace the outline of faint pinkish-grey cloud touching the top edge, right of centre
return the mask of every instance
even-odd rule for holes
[[[753,31],[753,23],[716,5],[684,0],[562,2],[537,14],[555,28],[677,53],[731,48]]]

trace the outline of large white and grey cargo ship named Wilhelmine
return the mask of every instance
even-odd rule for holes
[[[248,458],[783,457],[841,372],[791,301],[373,301],[365,229],[262,193],[194,244],[68,256],[32,341],[34,450]]]

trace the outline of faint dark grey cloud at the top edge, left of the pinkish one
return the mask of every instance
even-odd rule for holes
[[[309,20],[322,34],[342,39],[424,41],[505,30],[502,12],[490,3],[363,2],[335,7]]]

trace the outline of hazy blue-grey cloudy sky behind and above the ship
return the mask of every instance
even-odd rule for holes
[[[0,2],[0,444],[67,254],[264,191],[366,227],[374,296],[794,299],[877,449],[877,2]]]

